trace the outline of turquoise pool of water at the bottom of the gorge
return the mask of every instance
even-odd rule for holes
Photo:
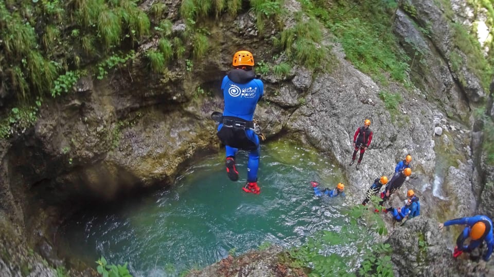
[[[287,141],[261,146],[259,195],[241,190],[247,153],[236,161],[238,182],[226,176],[220,152],[188,168],[170,190],[81,212],[63,227],[66,254],[90,265],[101,255],[109,263],[128,262],[134,276],[177,276],[228,253],[264,242],[296,246],[317,230],[345,224],[345,199],[316,197],[309,184],[342,181],[328,157]]]

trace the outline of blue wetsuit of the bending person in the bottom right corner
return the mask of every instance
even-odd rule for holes
[[[472,240],[469,245],[465,246],[463,243],[465,242],[466,239],[469,238],[471,228],[475,223],[479,221],[485,224],[484,235],[478,240],[474,240],[474,241]],[[490,258],[490,255],[492,254],[492,249],[494,247],[494,238],[492,235],[492,221],[489,219],[489,217],[485,215],[463,217],[461,219],[448,220],[447,222],[444,223],[444,226],[450,226],[455,224],[467,225],[465,229],[463,229],[463,232],[458,236],[458,239],[456,240],[456,245],[458,246],[458,249],[464,252],[471,252],[473,249],[479,247],[483,241],[485,241],[487,243],[487,251],[484,253],[482,259],[484,259],[484,261],[487,262]]]

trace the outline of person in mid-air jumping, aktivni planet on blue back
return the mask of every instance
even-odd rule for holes
[[[235,155],[238,150],[249,151],[245,192],[259,194],[257,171],[259,168],[259,137],[254,131],[254,111],[264,94],[264,84],[254,73],[254,56],[241,50],[233,56],[233,67],[223,77],[221,90],[224,110],[218,126],[218,137],[226,145],[226,173],[230,180],[238,181]]]

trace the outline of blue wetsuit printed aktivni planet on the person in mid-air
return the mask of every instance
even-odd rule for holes
[[[257,103],[264,94],[264,85],[261,80],[255,78],[253,70],[233,69],[223,77],[221,90],[224,97],[223,116],[239,118],[240,121],[251,122]],[[218,126],[218,133],[223,128],[223,123]],[[234,129],[233,127],[227,127]],[[240,131],[240,132],[238,132]],[[246,141],[249,147],[233,147],[226,144],[226,156],[234,157],[238,149],[250,150],[247,165],[247,182],[257,182],[257,170],[259,169],[259,137],[254,130],[245,128],[236,130],[233,135],[235,141]],[[218,134],[218,136],[220,136]],[[220,136],[220,138],[222,138]],[[223,141],[223,138],[222,138]]]

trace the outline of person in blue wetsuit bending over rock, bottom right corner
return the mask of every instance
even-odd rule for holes
[[[461,219],[448,220],[445,223],[439,223],[439,229],[442,230],[444,226],[450,226],[455,224],[467,225],[463,232],[458,235],[456,239],[456,247],[453,252],[453,256],[456,258],[463,251],[471,253],[472,250],[482,245],[485,241],[487,244],[487,251],[484,252],[482,259],[484,261],[479,262],[481,269],[485,268],[485,262],[487,262],[492,254],[494,247],[494,238],[492,235],[492,220],[486,215],[475,215],[472,217],[463,217]],[[464,242],[470,239],[470,244],[464,245]]]

